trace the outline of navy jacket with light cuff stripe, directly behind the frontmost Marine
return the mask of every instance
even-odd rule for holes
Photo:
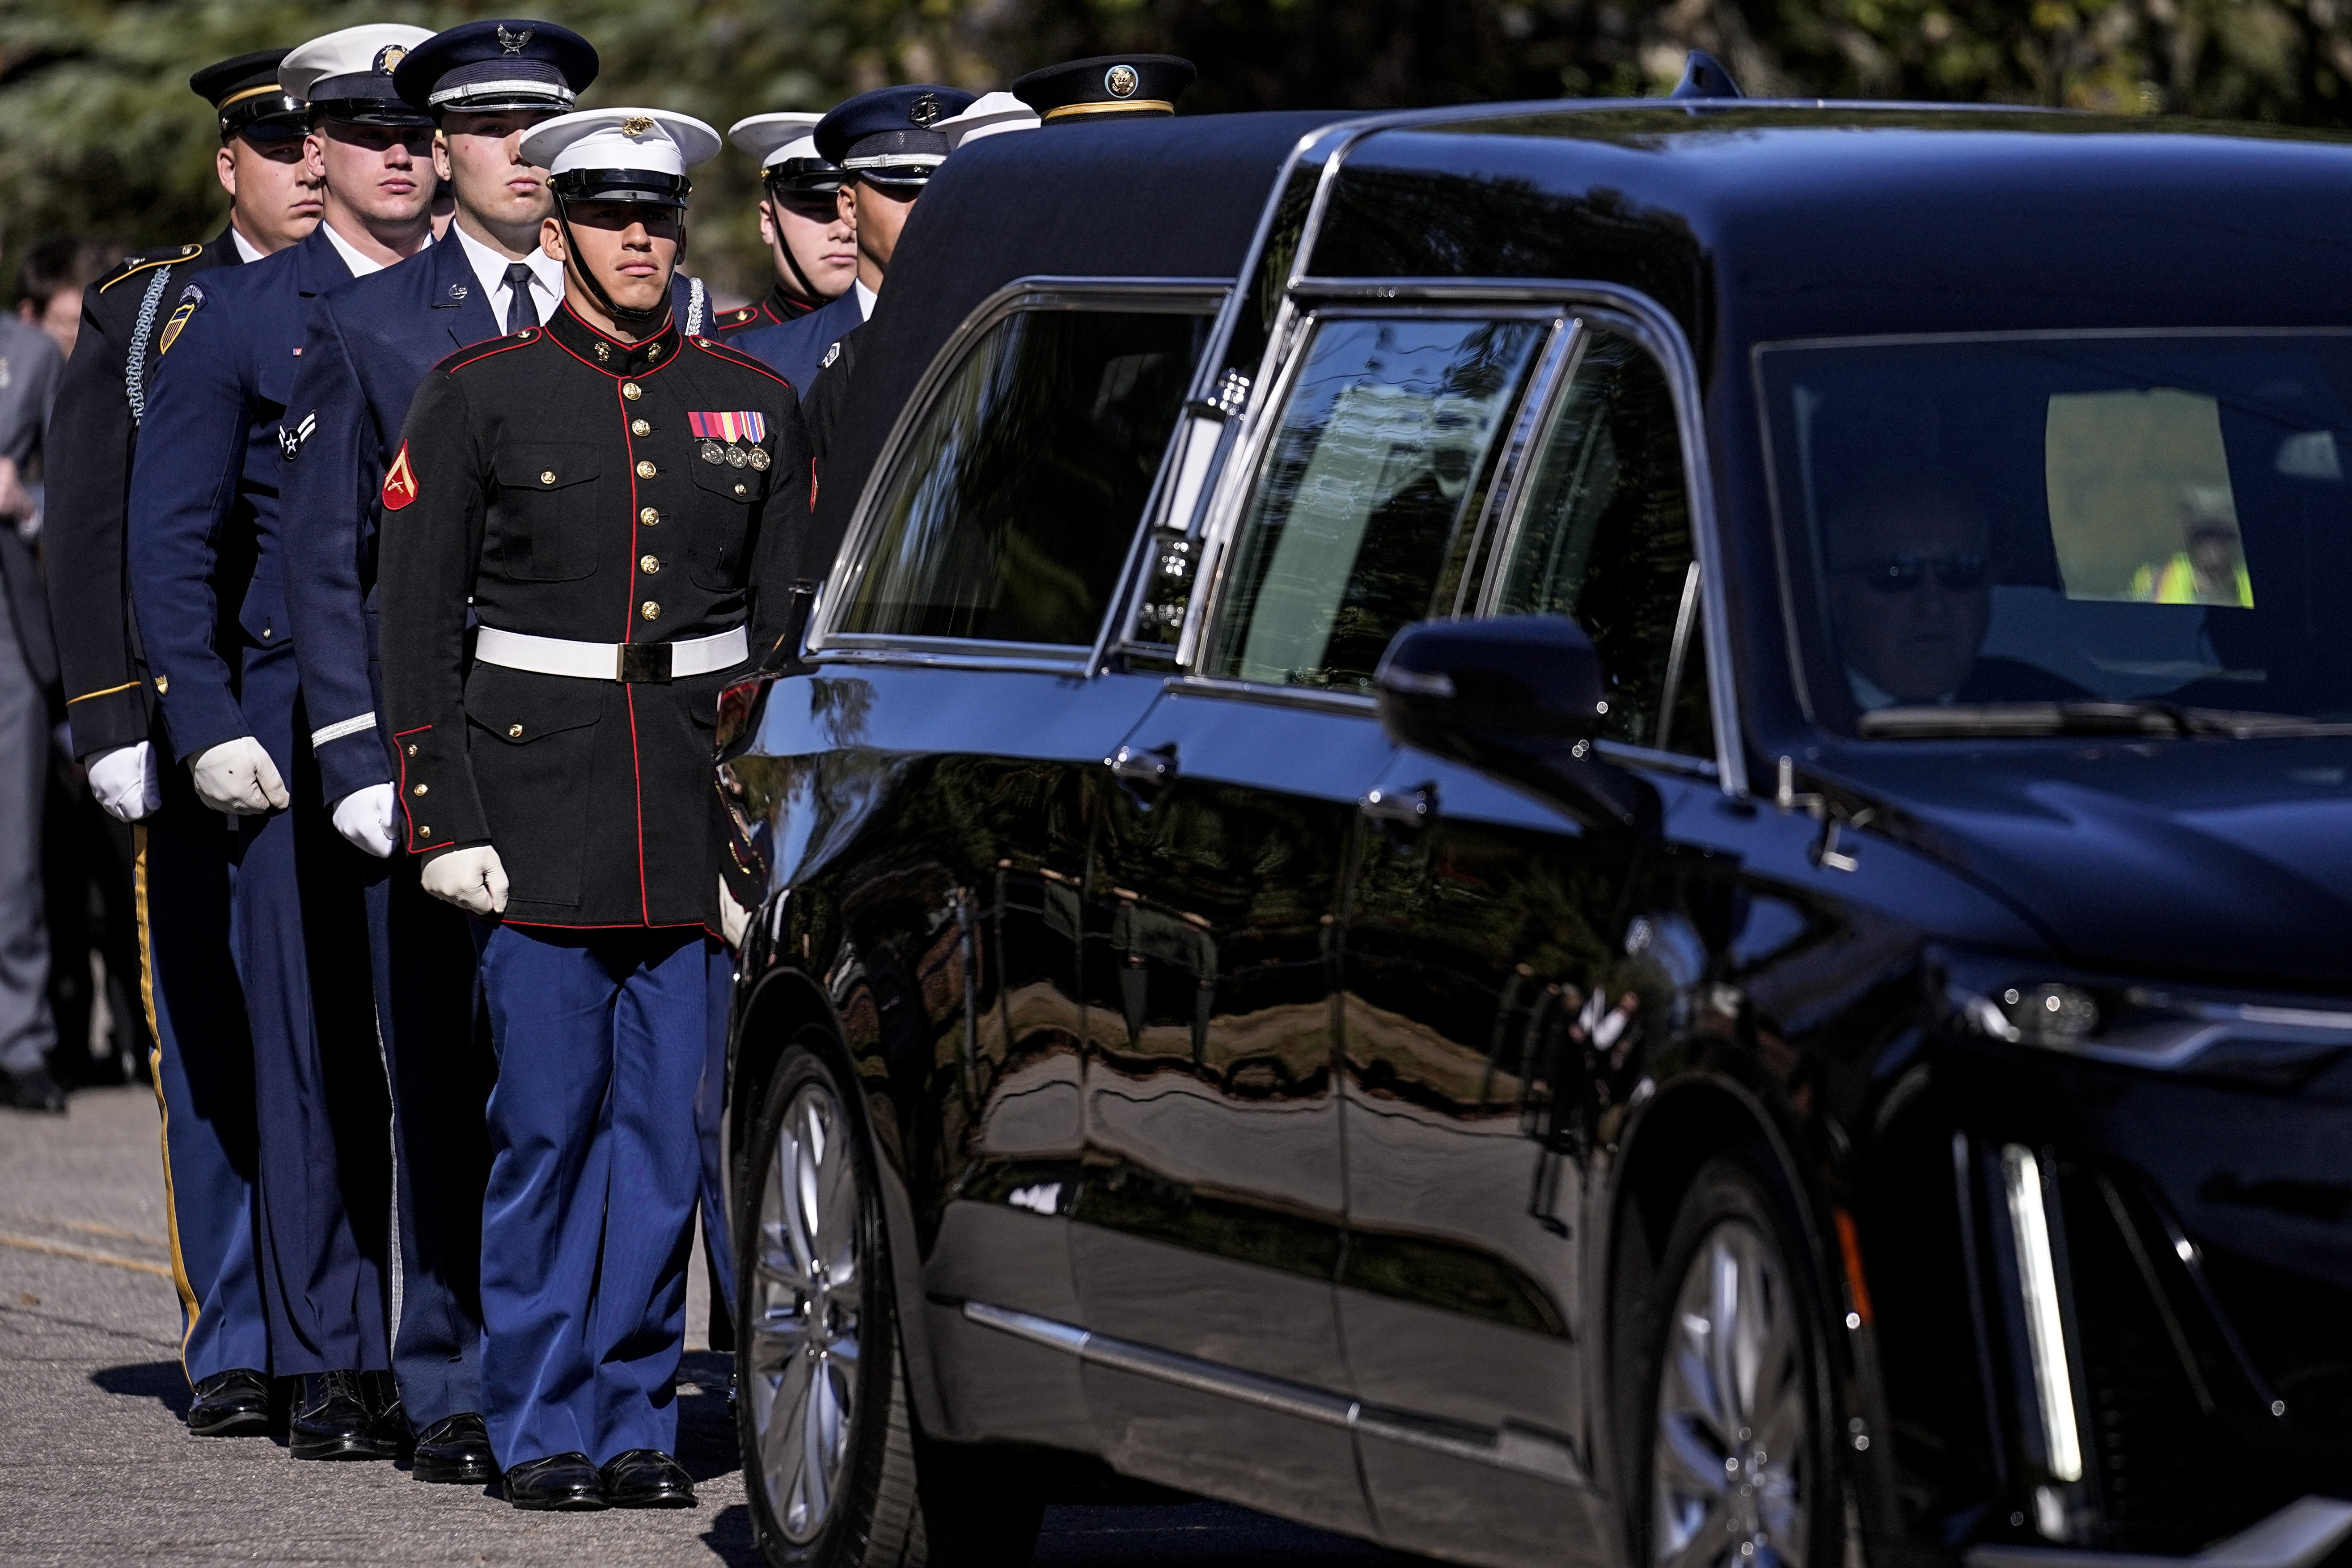
[[[687,280],[670,292],[680,322]],[[426,371],[459,348],[501,336],[466,247],[442,240],[310,303],[301,371],[287,402],[296,435],[285,461],[287,611],[320,792],[339,802],[393,780],[376,665],[376,522],[383,473]]]

